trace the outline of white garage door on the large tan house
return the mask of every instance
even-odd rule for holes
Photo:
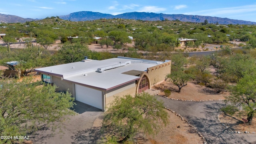
[[[76,84],[76,100],[102,109],[102,92]]]

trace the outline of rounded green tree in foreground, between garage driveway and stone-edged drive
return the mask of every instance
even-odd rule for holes
[[[122,143],[132,138],[136,132],[155,134],[168,123],[167,112],[162,102],[148,93],[116,97],[104,114],[102,126],[108,134]]]

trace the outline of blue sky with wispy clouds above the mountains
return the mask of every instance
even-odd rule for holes
[[[63,16],[92,11],[105,14],[154,12],[216,16],[256,22],[254,0],[1,0],[0,14],[22,18]]]

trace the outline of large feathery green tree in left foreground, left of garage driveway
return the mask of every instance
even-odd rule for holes
[[[41,82],[31,83],[31,79],[17,81],[0,80],[0,133],[3,136],[25,136],[47,124],[52,128],[59,126],[66,115],[74,115],[74,98],[71,94],[55,92],[56,86]],[[0,143],[13,143],[14,139],[1,140]]]

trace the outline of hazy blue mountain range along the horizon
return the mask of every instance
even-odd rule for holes
[[[124,14],[112,15],[112,14],[103,14],[100,12],[90,12],[90,11],[81,11],[74,12],[65,16],[59,16],[61,19],[70,20],[70,21],[87,21],[87,20],[98,20],[98,19],[111,19],[111,18],[123,18],[123,19],[132,19],[132,20],[180,20],[183,22],[204,22],[207,20],[208,23],[216,24],[246,24],[252,25],[256,22],[244,21],[244,20],[234,20],[229,18],[219,18],[212,16],[198,16],[198,15],[184,15],[184,14],[156,14],[149,12],[128,12]],[[16,23],[16,22],[26,22],[32,20],[32,18],[21,18],[19,16],[0,14],[0,22]]]

